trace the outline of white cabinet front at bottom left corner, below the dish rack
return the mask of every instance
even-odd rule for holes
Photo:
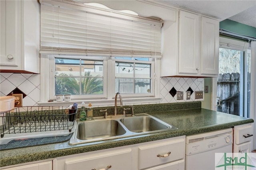
[[[11,168],[3,168],[3,170],[52,170],[52,160],[22,166],[14,166]]]

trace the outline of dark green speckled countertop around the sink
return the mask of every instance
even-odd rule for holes
[[[253,119],[247,119],[244,117],[201,108],[162,111],[148,114],[177,127],[178,130],[170,130],[159,133],[144,134],[141,136],[118,138],[115,140],[104,140],[100,142],[90,142],[77,145],[69,145],[67,141],[56,144],[2,150],[0,151],[0,167],[32,162],[36,160],[56,158],[71,154],[90,152],[94,150],[149,142],[153,140],[172,138],[175,136],[197,134],[200,132],[219,130],[254,122]]]

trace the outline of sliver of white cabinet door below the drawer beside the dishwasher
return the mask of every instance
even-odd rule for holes
[[[160,166],[149,168],[146,170],[184,170],[184,169],[185,169],[185,162],[184,162],[184,159],[182,159],[182,160],[170,162],[168,164],[163,164]]]

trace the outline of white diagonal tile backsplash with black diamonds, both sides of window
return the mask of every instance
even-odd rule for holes
[[[20,73],[0,73],[0,95],[5,96],[18,88],[26,97],[23,99],[23,106],[35,106],[40,101],[40,74],[20,74]],[[174,88],[174,89],[173,89]],[[192,89],[190,99],[186,99],[186,91]],[[183,91],[182,100],[177,100],[177,94],[171,95],[171,89]],[[186,78],[186,77],[161,77],[160,78],[160,103],[178,103],[203,101],[195,99],[194,91],[204,91],[203,78]]]

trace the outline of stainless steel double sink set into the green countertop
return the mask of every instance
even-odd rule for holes
[[[69,144],[81,144],[101,140],[138,136],[178,128],[148,114],[137,114],[134,117],[118,117],[93,121],[78,121],[76,131],[70,138]]]

